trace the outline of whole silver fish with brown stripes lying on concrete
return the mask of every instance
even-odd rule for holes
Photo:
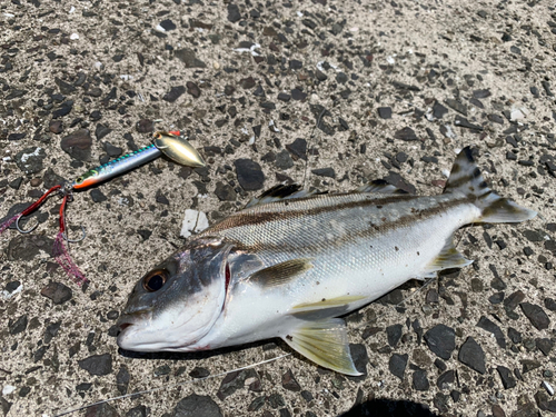
[[[117,344],[192,353],[280,338],[319,366],[361,375],[342,316],[409,279],[470,265],[454,246],[460,227],[535,216],[487,186],[469,147],[441,195],[380,180],[338,193],[279,185],[139,279]]]

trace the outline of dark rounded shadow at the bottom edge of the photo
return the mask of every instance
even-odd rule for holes
[[[349,411],[338,417],[439,417],[424,405],[407,400],[375,398],[355,405]]]

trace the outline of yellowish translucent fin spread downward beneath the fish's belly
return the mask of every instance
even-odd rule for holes
[[[363,375],[351,359],[346,322],[340,318],[307,321],[282,339],[317,365],[340,374]]]

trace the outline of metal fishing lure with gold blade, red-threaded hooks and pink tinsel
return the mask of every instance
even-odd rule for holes
[[[153,135],[153,142],[151,145],[138,149],[133,152],[127,153],[99,167],[92,168],[83,175],[77,177],[73,181],[67,181],[62,185],[50,188],[28,208],[0,224],[0,234],[2,234],[13,224],[16,224],[16,228],[21,234],[29,234],[34,230],[37,226],[39,226],[38,222],[33,227],[23,230],[19,226],[19,221],[21,220],[21,218],[31,215],[44,202],[44,200],[49,196],[51,196],[54,191],[58,191],[58,193],[62,196],[62,203],[60,206],[59,218],[60,229],[54,240],[52,256],[76,284],[82,285],[87,281],[87,278],[79,270],[77,265],[71,260],[71,257],[69,256],[69,252],[63,245],[63,240],[68,242],[78,242],[83,240],[86,237],[85,228],[82,226],[82,237],[80,239],[72,240],[69,239],[66,235],[66,206],[73,199],[73,191],[80,191],[91,186],[96,186],[100,182],[108,181],[113,177],[120,176],[127,171],[150,162],[162,155],[166,155],[168,158],[178,163],[189,167],[198,168],[205,166],[205,160],[202,159],[202,157],[185,138],[180,137],[179,131],[158,131]]]

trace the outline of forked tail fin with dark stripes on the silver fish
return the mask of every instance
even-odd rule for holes
[[[536,211],[503,198],[488,188],[469,147],[464,148],[457,156],[444,192],[458,192],[471,197],[481,211],[478,222],[519,222],[533,219],[537,215]]]

